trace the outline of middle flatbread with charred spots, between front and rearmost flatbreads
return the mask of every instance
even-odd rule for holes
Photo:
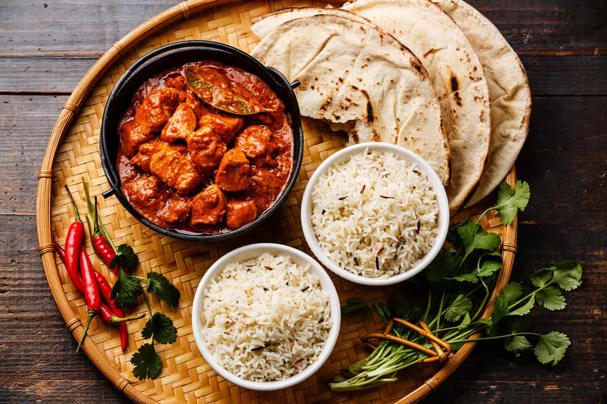
[[[370,19],[421,60],[441,100],[452,154],[447,186],[456,213],[475,190],[489,150],[489,90],[472,45],[452,18],[430,0],[358,0],[344,10]]]

